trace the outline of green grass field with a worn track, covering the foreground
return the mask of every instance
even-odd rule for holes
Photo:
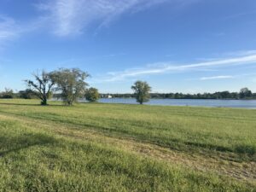
[[[256,110],[0,101],[0,191],[256,191]]]

